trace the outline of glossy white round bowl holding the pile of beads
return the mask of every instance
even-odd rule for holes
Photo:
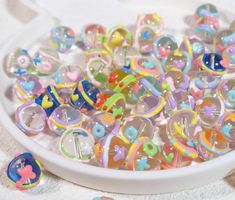
[[[22,2],[25,3],[26,1]],[[22,4],[22,2],[19,3]],[[78,12],[72,10],[71,13],[67,13],[68,8],[64,7],[67,15],[57,16],[57,18],[61,17],[64,24],[72,25],[78,29],[91,21],[99,22],[106,26],[117,23],[133,24],[138,13],[157,11],[163,17],[165,26],[170,28],[167,29],[167,32],[173,32],[177,35],[180,35],[189,26],[186,23],[188,21],[185,20],[185,16],[192,14],[197,6],[200,5],[200,1],[188,0],[103,0],[97,2],[95,0],[87,0],[86,3],[81,3],[81,1],[71,2],[72,5],[76,3]],[[229,9],[216,5],[222,11],[223,23],[228,24],[235,15]],[[3,66],[4,56],[9,51],[15,47],[31,47],[41,35],[49,32],[58,22],[39,7],[29,2],[27,2],[26,6],[31,11],[34,10],[37,16],[1,46],[1,66]],[[227,6],[229,7],[229,5]],[[89,11],[89,17],[84,17],[87,16],[87,11]],[[68,21],[75,15],[76,20]],[[65,17],[67,21],[63,21],[63,16],[67,16],[67,18]],[[77,19],[79,19],[78,26],[76,24]],[[41,26],[42,23],[43,26]],[[8,130],[8,133],[39,159],[48,171],[61,178],[103,191],[129,194],[165,193],[193,188],[215,181],[228,175],[235,167],[235,151],[201,164],[165,171],[113,170],[68,160],[47,150],[39,144],[39,141],[26,136],[16,127],[13,117],[15,105],[10,100],[9,92],[13,80],[5,75],[3,68],[0,70],[0,85],[2,88],[0,90],[0,120],[2,124]]]

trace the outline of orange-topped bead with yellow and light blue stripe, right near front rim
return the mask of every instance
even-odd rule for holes
[[[215,129],[205,129],[198,135],[197,151],[203,160],[224,155],[229,151],[229,144],[224,135]]]

